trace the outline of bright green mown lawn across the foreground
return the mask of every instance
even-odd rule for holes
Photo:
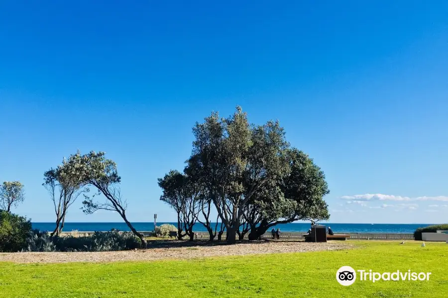
[[[0,263],[0,297],[448,297],[448,244],[351,241],[350,250],[126,263]],[[336,270],[432,272],[429,281],[356,282]]]

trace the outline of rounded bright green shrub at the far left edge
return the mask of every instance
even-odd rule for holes
[[[14,252],[26,247],[31,232],[31,221],[24,217],[0,211],[0,251]]]

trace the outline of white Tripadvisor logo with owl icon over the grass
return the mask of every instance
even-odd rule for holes
[[[383,281],[429,281],[431,272],[411,272],[394,271],[394,272],[374,272],[370,270],[354,270],[350,266],[342,266],[336,271],[336,280],[342,286],[350,286],[356,281],[356,272],[360,281],[370,281],[372,283],[379,280]]]

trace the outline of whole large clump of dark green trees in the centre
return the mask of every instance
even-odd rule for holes
[[[192,240],[196,222],[210,240],[225,229],[228,243],[235,243],[245,235],[259,239],[277,224],[329,219],[324,172],[290,146],[278,121],[251,124],[237,106],[228,118],[213,112],[193,134],[183,173],[171,170],[159,178],[160,199],[177,213],[179,238]]]

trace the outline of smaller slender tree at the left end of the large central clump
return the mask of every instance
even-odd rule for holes
[[[171,170],[158,181],[159,186],[163,189],[160,200],[170,205],[177,213],[178,239],[187,235],[190,240],[193,240],[193,226],[196,223],[201,203],[199,187],[192,183],[189,176],[176,170]]]

